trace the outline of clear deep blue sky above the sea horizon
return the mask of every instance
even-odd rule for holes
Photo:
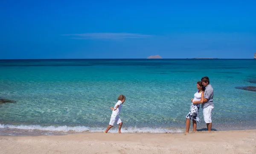
[[[256,1],[0,2],[0,59],[253,58]]]

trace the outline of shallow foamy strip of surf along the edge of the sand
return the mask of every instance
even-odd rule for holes
[[[255,125],[239,126],[239,125],[226,125],[225,128],[221,128],[222,125],[215,125],[212,131],[241,131],[241,130],[256,130]],[[86,126],[41,126],[41,125],[8,125],[0,124],[0,136],[42,136],[42,135],[69,135],[69,134],[81,134],[81,133],[101,133],[105,131],[106,127],[86,127]],[[185,133],[185,126],[183,127],[123,127],[122,133],[125,134],[183,134]],[[192,131],[192,127],[190,127]],[[204,125],[198,126],[198,132],[207,131]],[[112,134],[118,132],[118,127],[115,126],[109,131]]]

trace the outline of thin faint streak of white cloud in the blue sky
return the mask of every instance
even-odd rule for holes
[[[64,34],[63,36],[72,36],[71,39],[101,39],[101,40],[119,40],[126,38],[146,38],[151,35],[134,33],[84,33],[84,34]]]

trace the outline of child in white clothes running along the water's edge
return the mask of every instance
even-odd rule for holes
[[[109,121],[109,126],[106,129],[105,133],[108,133],[109,129],[112,128],[114,126],[114,123],[119,124],[118,127],[118,133],[121,133],[121,128],[122,128],[122,120],[119,118],[119,113],[122,110],[122,104],[125,102],[125,96],[124,95],[120,95],[117,98],[118,102],[116,103],[116,105],[114,106],[114,108],[111,107],[112,114],[111,114],[111,118]]]

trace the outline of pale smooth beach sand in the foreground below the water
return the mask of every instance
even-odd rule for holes
[[[0,136],[1,154],[255,154],[256,130]]]

